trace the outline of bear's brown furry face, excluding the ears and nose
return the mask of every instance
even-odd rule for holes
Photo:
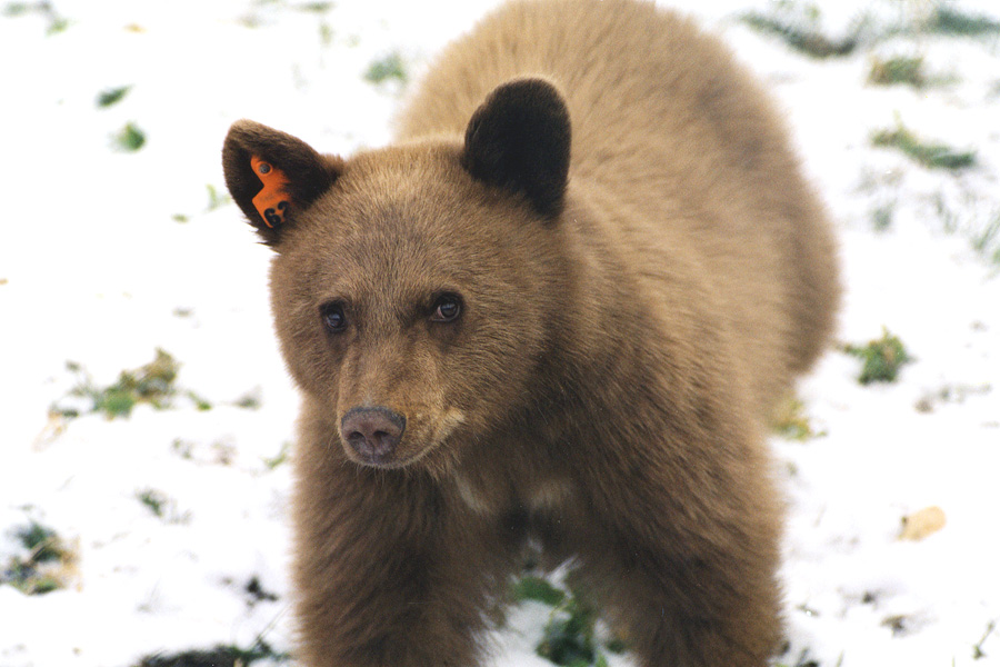
[[[282,349],[310,398],[338,422],[367,407],[404,419],[382,460],[343,442],[357,462],[391,467],[457,429],[489,429],[524,392],[560,263],[559,232],[473,183],[454,148],[393,153],[349,162],[282,239],[271,273]]]

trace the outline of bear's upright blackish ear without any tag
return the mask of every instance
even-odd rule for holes
[[[476,110],[466,130],[466,170],[480,181],[527,196],[546,218],[562,211],[569,160],[569,110],[544,79],[503,83]]]

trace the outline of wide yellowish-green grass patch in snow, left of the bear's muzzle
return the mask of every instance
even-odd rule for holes
[[[161,349],[157,349],[156,358],[146,366],[121,371],[118,381],[108,387],[98,387],[79,364],[69,361],[67,368],[78,376],[77,386],[70,390],[69,396],[89,401],[90,406],[86,411],[102,412],[109,419],[128,417],[132,414],[132,408],[140,404],[151,405],[158,410],[169,408],[178,395],[176,380],[180,364]],[[194,400],[199,409],[211,407],[193,391],[186,392],[186,396]],[[80,409],[58,404],[50,411],[63,417],[80,416]]]

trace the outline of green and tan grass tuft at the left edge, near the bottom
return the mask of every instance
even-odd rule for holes
[[[16,556],[0,570],[0,584],[9,584],[24,595],[44,595],[64,587],[64,573],[72,567],[76,555],[54,530],[31,521],[14,532],[27,550]]]

